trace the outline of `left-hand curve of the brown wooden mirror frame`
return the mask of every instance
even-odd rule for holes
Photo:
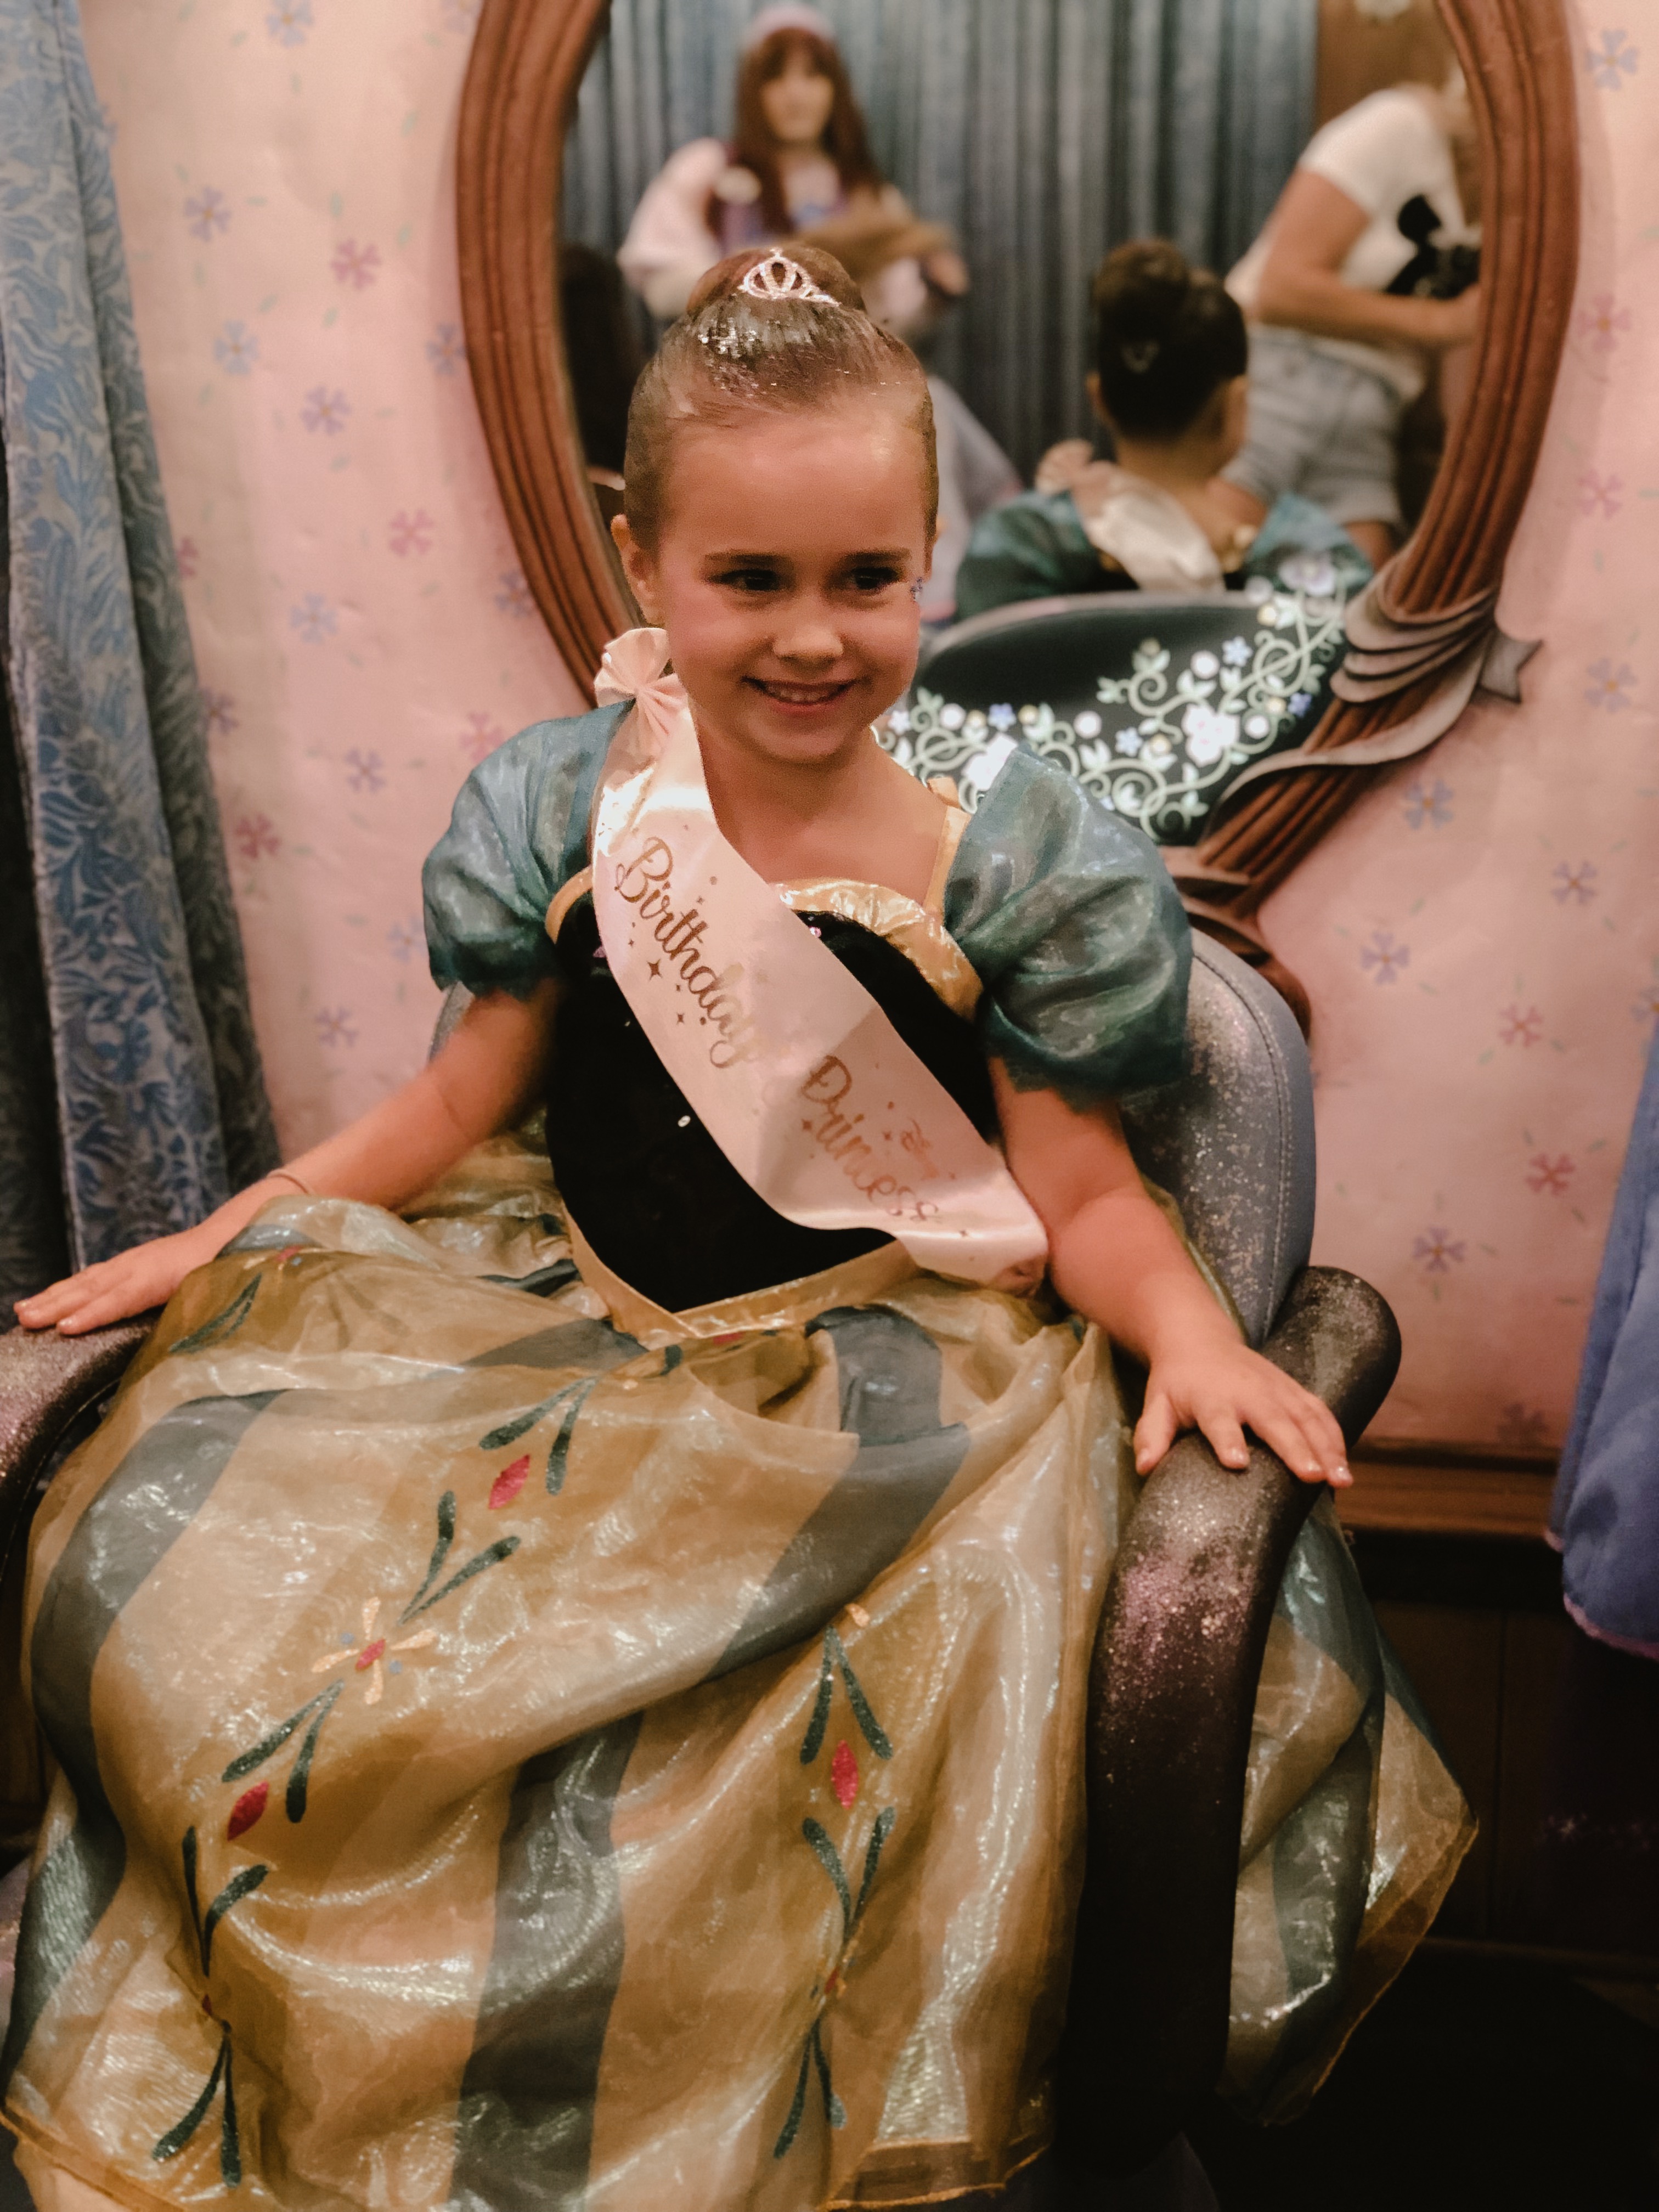
[[[633,608],[588,487],[555,283],[564,133],[608,0],[484,0],[456,148],[460,305],[524,582],[577,684]]]

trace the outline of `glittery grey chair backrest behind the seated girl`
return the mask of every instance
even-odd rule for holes
[[[469,1004],[456,984],[434,1053]],[[1259,1345],[1314,1241],[1314,1084],[1283,998],[1210,938],[1192,940],[1192,1062],[1121,1099],[1144,1175],[1170,1192]]]

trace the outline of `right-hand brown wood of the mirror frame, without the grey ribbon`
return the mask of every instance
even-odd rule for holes
[[[1387,571],[1389,611],[1409,617],[1502,582],[1555,394],[1579,248],[1577,60],[1559,0],[1442,0],[1442,13],[1480,133],[1484,312],[1467,420],[1422,526]],[[1380,737],[1433,690],[1429,677],[1365,706],[1338,701],[1312,745],[1336,752]],[[1221,902],[1254,914],[1378,774],[1310,768],[1241,799],[1194,852],[1248,878]]]

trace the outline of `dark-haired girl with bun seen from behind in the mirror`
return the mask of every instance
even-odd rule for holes
[[[958,615],[1051,593],[1219,591],[1256,575],[1356,591],[1369,562],[1329,515],[1287,493],[1241,522],[1221,480],[1250,400],[1245,321],[1221,281],[1166,239],[1141,239],[1102,261],[1093,305],[1088,396],[1117,460],[1095,460],[1084,438],[1053,447],[1035,489],[980,520]]]

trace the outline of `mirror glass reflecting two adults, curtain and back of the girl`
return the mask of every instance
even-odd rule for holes
[[[562,237],[606,513],[701,272],[838,254],[929,367],[936,628],[1095,591],[1345,599],[1422,513],[1480,303],[1429,0],[617,0]]]

